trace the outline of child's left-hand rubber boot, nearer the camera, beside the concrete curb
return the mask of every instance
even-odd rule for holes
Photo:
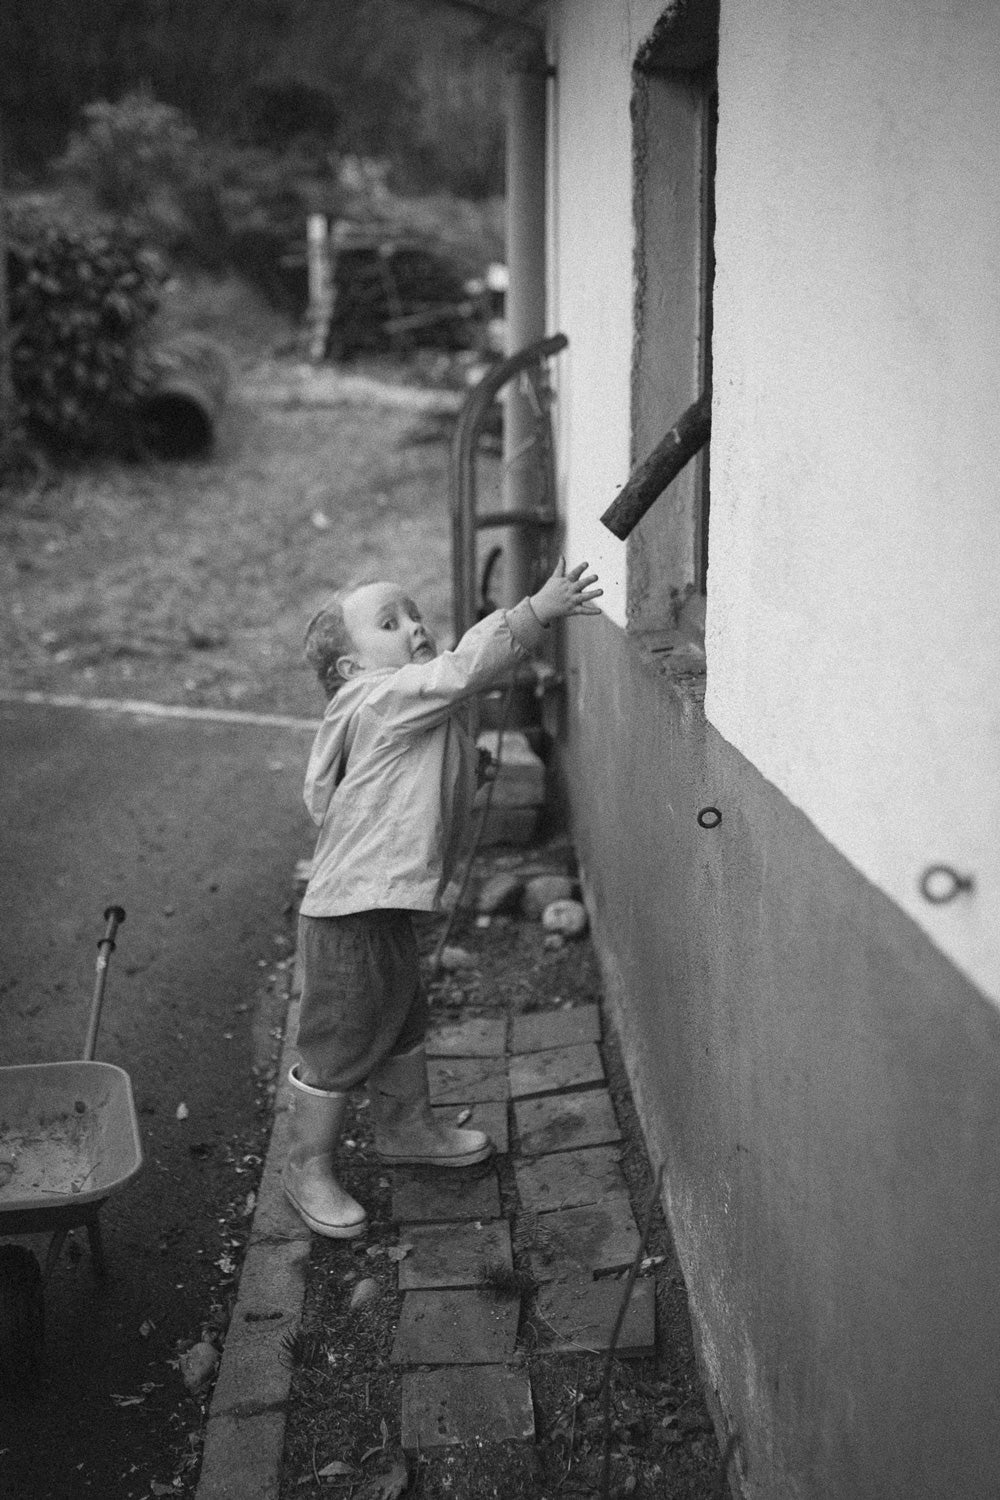
[[[313,1089],[295,1076],[295,1068],[289,1071],[288,1082],[294,1089],[294,1107],[282,1170],[285,1196],[316,1234],[354,1239],[364,1233],[367,1215],[333,1174],[333,1152],[340,1138],[348,1095]]]

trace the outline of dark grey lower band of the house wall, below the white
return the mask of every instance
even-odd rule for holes
[[[574,626],[568,668],[607,993],[745,1492],[994,1500],[996,1008],[621,630]]]

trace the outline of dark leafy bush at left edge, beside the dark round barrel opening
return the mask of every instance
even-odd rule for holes
[[[25,429],[69,452],[130,447],[153,368],[148,328],[163,273],[123,231],[13,225],[13,386]]]

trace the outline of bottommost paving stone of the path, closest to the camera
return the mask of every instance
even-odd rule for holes
[[[463,1365],[403,1376],[406,1452],[451,1443],[531,1443],[535,1414],[526,1370]]]

